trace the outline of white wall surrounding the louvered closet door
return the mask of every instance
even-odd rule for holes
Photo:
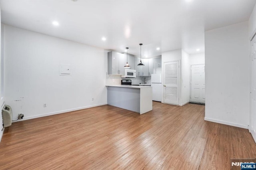
[[[170,62],[170,61],[180,61],[180,65],[181,65],[181,59],[182,59],[181,49],[166,51],[162,53],[162,83],[164,83],[164,63]],[[180,72],[181,72],[181,69],[180,69]],[[180,104],[181,104],[181,98],[182,98],[181,91],[182,91],[182,88],[181,88],[181,77],[180,77],[180,101],[179,101]],[[164,88],[162,88],[162,103],[164,103]]]

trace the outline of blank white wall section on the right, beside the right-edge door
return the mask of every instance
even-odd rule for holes
[[[248,22],[205,32],[205,120],[249,125]]]

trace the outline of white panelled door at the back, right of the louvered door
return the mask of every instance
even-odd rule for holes
[[[191,65],[191,102],[205,103],[204,64]]]

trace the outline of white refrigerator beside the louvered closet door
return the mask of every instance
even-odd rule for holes
[[[153,101],[162,101],[161,74],[151,74],[151,86]]]

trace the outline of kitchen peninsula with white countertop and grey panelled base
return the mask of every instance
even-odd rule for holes
[[[141,114],[152,111],[152,87],[132,85],[106,85],[108,105]]]

